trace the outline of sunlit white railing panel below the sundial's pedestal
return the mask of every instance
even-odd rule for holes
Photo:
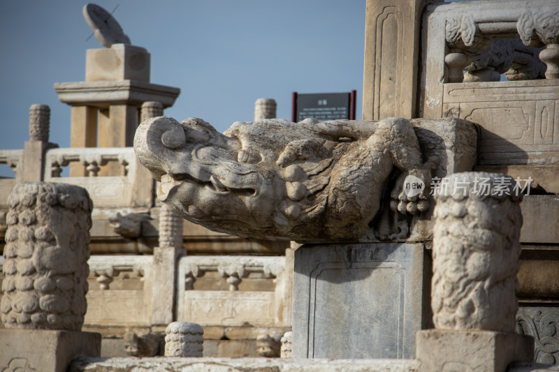
[[[89,177],[59,177],[62,167],[79,162]],[[103,165],[122,165],[122,176],[97,177]],[[142,207],[152,202],[152,182],[147,170],[138,166],[131,147],[50,149],[45,156],[45,181],[76,184],[87,189],[95,207]]]

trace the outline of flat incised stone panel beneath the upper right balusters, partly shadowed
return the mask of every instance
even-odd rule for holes
[[[480,165],[557,163],[557,80],[444,84],[443,100],[442,116],[479,124]]]

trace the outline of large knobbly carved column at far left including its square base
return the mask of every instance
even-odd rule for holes
[[[93,209],[87,191],[24,182],[13,189],[8,207],[0,369],[24,359],[30,368],[66,371],[77,355],[99,356],[101,335],[79,332],[87,309]]]

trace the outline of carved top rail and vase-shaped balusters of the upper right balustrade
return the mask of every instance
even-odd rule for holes
[[[546,79],[559,77],[559,2],[556,0],[525,1],[509,0],[498,3],[452,3],[444,6],[433,6],[430,20],[437,21],[436,27],[444,30],[444,41],[448,52],[444,56],[448,73],[446,82],[462,82],[463,70],[482,70],[477,81],[495,81],[500,73],[511,68],[514,61],[514,44],[503,47],[503,43],[493,47],[498,52],[490,53],[495,57],[493,66],[475,68],[472,66],[479,60],[480,52],[492,49],[492,42],[497,38],[520,38],[525,47],[546,47],[528,54],[539,54],[547,66]],[[433,23],[432,23],[433,24]],[[440,30],[440,31],[442,31]],[[518,51],[524,53],[524,51]],[[525,57],[516,53],[516,64],[526,64]],[[504,59],[506,60],[503,60]],[[537,63],[535,63],[537,64]],[[497,69],[495,71],[495,68]],[[513,68],[514,69],[514,68]],[[532,68],[541,70],[541,68]],[[521,74],[515,80],[543,77],[539,74]],[[497,79],[498,80],[498,79]]]

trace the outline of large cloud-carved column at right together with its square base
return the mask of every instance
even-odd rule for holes
[[[505,371],[533,357],[514,333],[522,214],[516,182],[463,172],[435,189],[431,307],[436,329],[417,333],[420,371]],[[479,366],[483,366],[479,369]]]

